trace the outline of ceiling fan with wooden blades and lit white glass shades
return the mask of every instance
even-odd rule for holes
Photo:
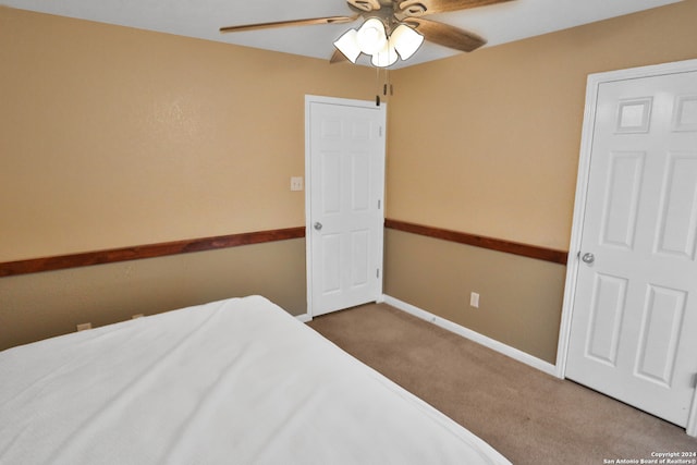
[[[398,59],[407,60],[424,40],[448,48],[473,51],[487,41],[482,37],[449,24],[427,20],[436,13],[466,10],[510,0],[346,0],[355,13],[350,16],[310,17],[221,27],[221,33],[267,29],[272,27],[344,24],[363,19],[357,29],[351,28],[334,41],[331,63],[356,62],[362,53],[371,57],[371,63],[387,68]]]

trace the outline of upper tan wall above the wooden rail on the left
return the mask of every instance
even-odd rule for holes
[[[305,95],[375,96],[366,68],[10,9],[0,44],[0,261],[303,225]]]

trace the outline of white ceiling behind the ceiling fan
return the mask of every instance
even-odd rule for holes
[[[514,0],[428,19],[478,34],[491,47],[677,1]],[[225,35],[218,32],[221,26],[351,14],[344,0],[0,0],[0,4],[327,60],[333,52],[332,42],[352,26],[283,27]],[[455,53],[460,52],[425,44],[404,64]]]

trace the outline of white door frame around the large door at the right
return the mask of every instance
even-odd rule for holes
[[[627,81],[633,78],[652,77],[692,71],[697,71],[697,60],[685,60],[672,63],[609,71],[588,75],[586,83],[586,105],[584,110],[580,154],[578,158],[578,174],[576,179],[574,215],[571,242],[568,245],[568,260],[566,262],[566,280],[564,283],[562,319],[559,331],[559,345],[557,350],[555,375],[559,378],[563,379],[566,374],[566,358],[568,355],[571,322],[574,313],[573,306],[576,294],[576,283],[578,280],[578,266],[580,264],[579,250],[580,241],[583,237],[584,217],[586,215],[586,198],[588,196],[588,181],[590,174],[590,152],[592,149],[592,135],[596,125],[596,107],[598,105],[599,86],[602,83],[614,81]],[[695,389],[690,415],[687,419],[686,431],[690,436],[697,436],[697,389]]]

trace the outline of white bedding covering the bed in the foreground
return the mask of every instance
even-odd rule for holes
[[[508,464],[264,297],[0,352],[0,464]]]

